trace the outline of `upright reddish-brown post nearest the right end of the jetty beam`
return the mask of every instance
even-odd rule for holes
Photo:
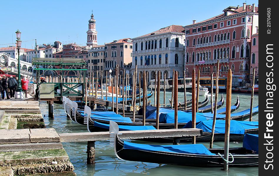
[[[192,128],[196,128],[196,72],[192,71]],[[185,104],[186,106],[186,104]],[[196,136],[192,137],[192,144],[196,144]]]

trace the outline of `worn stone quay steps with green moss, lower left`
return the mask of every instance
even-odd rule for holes
[[[54,128],[45,128],[38,101],[0,101],[0,176],[76,175]]]

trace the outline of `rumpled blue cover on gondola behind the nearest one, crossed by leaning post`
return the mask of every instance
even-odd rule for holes
[[[213,120],[196,122],[196,128],[202,129],[203,132],[212,132]],[[225,120],[216,120],[214,133],[225,133]],[[183,128],[192,128],[192,121],[189,121]],[[230,121],[231,134],[245,134],[245,129],[259,128],[259,122],[249,121]]]

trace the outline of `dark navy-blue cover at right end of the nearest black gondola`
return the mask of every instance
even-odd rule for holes
[[[259,153],[259,135],[245,134],[243,139],[243,148]]]

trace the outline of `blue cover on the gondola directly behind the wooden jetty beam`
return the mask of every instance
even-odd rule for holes
[[[94,121],[94,126],[109,129],[109,124],[99,123]],[[156,130],[154,126],[132,126],[132,125],[118,125],[119,131],[133,131],[133,130]]]

